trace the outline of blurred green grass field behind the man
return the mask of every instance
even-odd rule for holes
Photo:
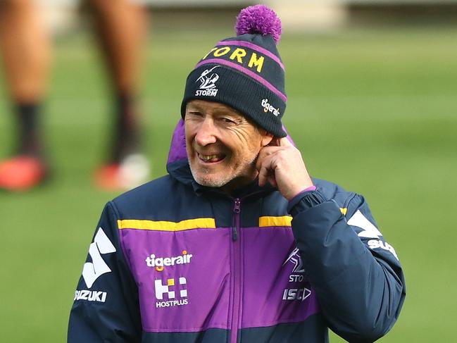
[[[142,113],[154,177],[165,173],[187,73],[231,35],[151,37]],[[44,118],[54,177],[27,194],[0,193],[1,342],[64,342],[92,233],[116,195],[91,184],[111,127],[104,70],[91,42],[84,34],[56,45]],[[365,195],[403,263],[406,303],[380,342],[454,342],[457,28],[284,34],[280,51],[289,96],[284,123],[308,169]],[[14,125],[1,87],[6,156]]]

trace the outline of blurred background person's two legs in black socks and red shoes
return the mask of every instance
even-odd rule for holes
[[[18,119],[17,146],[0,161],[0,189],[22,192],[41,185],[49,162],[40,128],[51,44],[37,0],[0,1],[0,53]],[[87,0],[113,85],[113,142],[94,181],[101,189],[125,189],[144,181],[147,161],[139,154],[135,97],[146,32],[144,8],[130,0]]]

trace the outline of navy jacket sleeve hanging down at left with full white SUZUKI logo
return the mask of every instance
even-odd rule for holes
[[[140,342],[138,290],[120,247],[116,217],[108,203],[75,291],[68,343]]]

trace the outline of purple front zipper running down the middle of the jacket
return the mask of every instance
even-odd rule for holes
[[[241,234],[241,200],[234,199],[233,204],[234,225],[232,225],[232,275],[233,275],[233,294],[232,294],[232,328],[230,330],[230,343],[237,343],[238,339],[238,322],[241,311],[240,297],[241,297],[241,239],[238,235]]]

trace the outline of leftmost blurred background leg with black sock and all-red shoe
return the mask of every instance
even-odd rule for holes
[[[33,0],[0,1],[0,53],[6,85],[18,120],[17,146],[0,161],[0,189],[23,191],[48,174],[40,112],[51,59],[51,44]]]

